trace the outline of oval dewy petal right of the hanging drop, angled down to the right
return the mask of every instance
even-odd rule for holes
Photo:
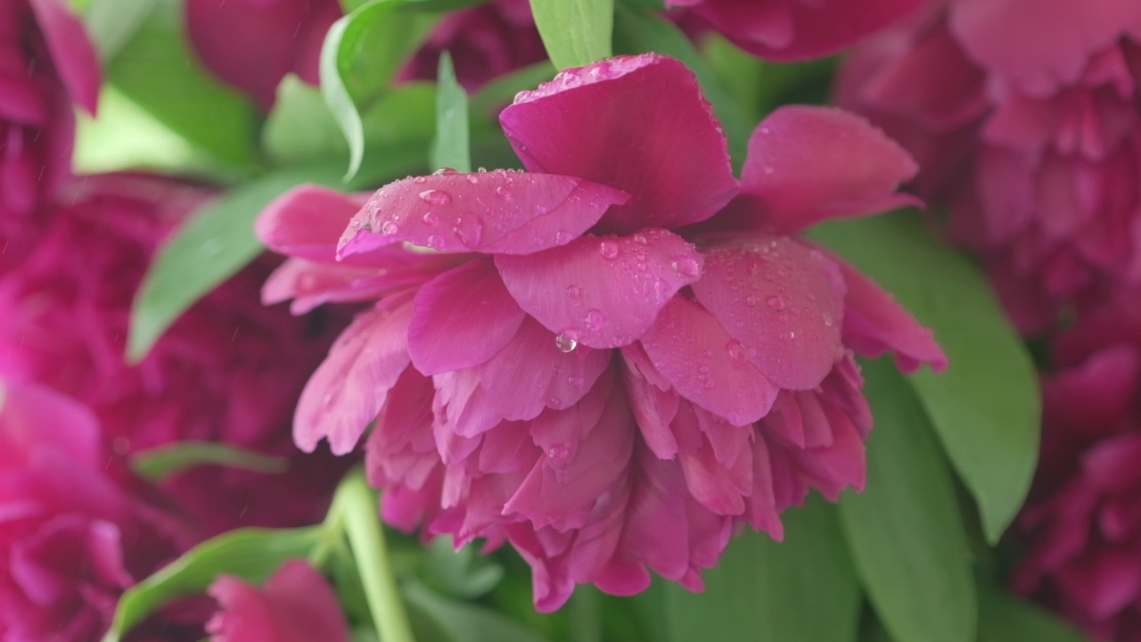
[[[712,314],[680,297],[662,308],[641,345],[674,390],[730,424],[760,419],[779,392]]]

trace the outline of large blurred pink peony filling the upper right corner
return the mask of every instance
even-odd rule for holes
[[[923,168],[1015,323],[1141,283],[1141,6],[944,0],[860,47],[839,99]]]

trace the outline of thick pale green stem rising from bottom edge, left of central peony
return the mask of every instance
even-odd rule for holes
[[[364,473],[349,474],[337,489],[334,504],[340,506],[345,535],[364,585],[369,612],[383,642],[414,642],[404,612],[391,560],[385,547],[385,533],[377,515],[377,498],[365,483]]]

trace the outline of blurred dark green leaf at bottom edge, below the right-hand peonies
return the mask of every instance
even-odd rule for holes
[[[979,642],[1085,642],[1086,637],[1042,607],[990,581],[979,581]]]

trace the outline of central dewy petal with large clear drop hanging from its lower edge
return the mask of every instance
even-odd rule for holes
[[[528,256],[495,257],[511,296],[552,332],[591,347],[638,339],[678,290],[701,276],[702,257],[681,236],[582,236]]]

